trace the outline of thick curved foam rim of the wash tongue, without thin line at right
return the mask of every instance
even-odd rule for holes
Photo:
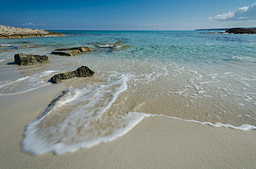
[[[121,137],[122,135],[126,134],[133,129],[135,125],[139,124],[140,121],[144,120],[145,117],[149,117],[149,115],[144,113],[137,113],[137,112],[129,112],[126,115],[132,115],[132,120],[126,124],[125,128],[118,129],[115,133],[110,134],[106,137],[99,137],[92,141],[82,142],[82,143],[75,143],[72,145],[65,145],[64,143],[57,143],[54,145],[47,145],[41,146],[42,141],[40,138],[36,137],[36,124],[39,123],[39,120],[31,121],[31,123],[26,125],[26,131],[24,134],[24,139],[21,141],[22,151],[26,153],[31,153],[33,155],[40,155],[43,153],[50,153],[54,152],[56,155],[64,154],[64,153],[73,153],[81,148],[92,148],[99,143],[107,143],[111,142],[112,140]],[[30,137],[26,137],[29,134]],[[40,148],[40,149],[38,149]]]

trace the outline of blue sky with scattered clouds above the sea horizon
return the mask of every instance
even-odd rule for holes
[[[6,0],[0,25],[113,31],[255,27],[256,0]]]

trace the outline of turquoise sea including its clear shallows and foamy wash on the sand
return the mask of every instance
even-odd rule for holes
[[[230,129],[256,129],[256,35],[220,31],[55,31],[62,37],[0,40],[0,96],[59,86],[24,124],[26,153],[73,153],[121,137],[152,116]],[[123,42],[115,48],[110,44]],[[55,49],[88,46],[75,56]],[[14,54],[48,63],[19,66]],[[88,66],[93,77],[57,84],[56,73]],[[40,89],[40,90],[39,90]],[[47,90],[47,89],[45,89]],[[171,120],[170,120],[171,123]],[[161,131],[159,131],[161,132]]]

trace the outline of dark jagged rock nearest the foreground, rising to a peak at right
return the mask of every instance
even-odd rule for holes
[[[87,66],[81,66],[72,72],[55,74],[55,76],[50,78],[50,82],[57,83],[57,82],[60,82],[61,80],[74,78],[74,77],[92,77],[93,74],[94,72],[90,68],[88,68]]]

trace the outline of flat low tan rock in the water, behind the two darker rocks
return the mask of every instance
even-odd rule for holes
[[[62,56],[73,56],[77,54],[82,54],[83,52],[91,52],[93,49],[88,47],[74,47],[74,48],[65,48],[65,49],[55,49],[55,52],[51,54],[59,54]]]

